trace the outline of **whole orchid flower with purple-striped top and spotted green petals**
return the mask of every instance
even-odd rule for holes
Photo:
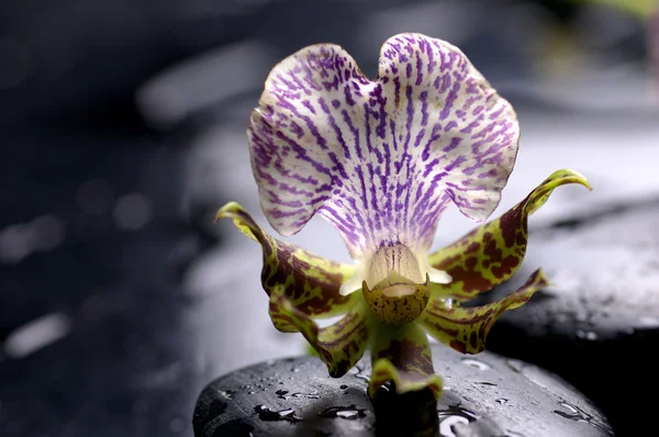
[[[520,127],[453,45],[401,34],[367,79],[342,47],[299,51],[268,76],[247,128],[252,167],[270,225],[283,236],[328,220],[355,265],[268,235],[237,203],[217,212],[263,247],[261,281],[281,332],[300,332],[345,374],[370,348],[369,395],[429,388],[438,399],[429,334],[463,354],[485,347],[492,324],[548,282],[540,270],[500,302],[463,307],[511,278],[526,251],[527,216],[551,191],[588,181],[559,170],[499,220],[428,255],[442,212],[484,221],[513,170]],[[590,188],[590,187],[589,187]],[[344,315],[319,327],[314,320]]]

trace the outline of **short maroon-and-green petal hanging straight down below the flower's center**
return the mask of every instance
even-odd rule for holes
[[[428,388],[436,399],[442,395],[442,380],[433,369],[428,337],[415,323],[380,325],[371,347],[373,369],[368,386],[369,396],[388,381],[403,394]]]

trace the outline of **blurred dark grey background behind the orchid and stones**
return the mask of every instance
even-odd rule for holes
[[[557,192],[538,223],[658,193],[638,164],[659,158],[640,3],[0,3],[0,435],[191,435],[210,380],[303,351],[269,324],[258,248],[213,212],[237,200],[265,223],[244,130],[305,45],[338,43],[370,76],[398,32],[460,46],[522,120],[501,211],[559,167],[597,190]],[[471,226],[445,220],[437,245]],[[319,220],[292,240],[349,259]]]

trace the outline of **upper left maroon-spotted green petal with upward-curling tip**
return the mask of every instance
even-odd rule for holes
[[[268,295],[276,288],[283,288],[288,302],[312,317],[343,314],[355,304],[357,293],[346,296],[338,293],[340,284],[353,274],[353,266],[330,261],[272,238],[235,202],[217,212],[216,218],[223,217],[233,218],[243,234],[261,245],[261,283]]]

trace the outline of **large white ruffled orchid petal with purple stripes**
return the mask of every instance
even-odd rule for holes
[[[456,47],[418,34],[382,46],[368,80],[339,46],[277,65],[248,126],[264,212],[291,235],[319,212],[354,258],[427,250],[449,202],[487,218],[513,169],[518,124]]]

